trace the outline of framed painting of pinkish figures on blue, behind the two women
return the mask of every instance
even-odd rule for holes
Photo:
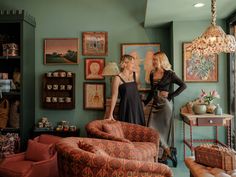
[[[128,54],[135,59],[136,79],[140,91],[150,90],[149,74],[153,69],[152,56],[158,51],[160,51],[159,43],[121,44],[121,55]]]

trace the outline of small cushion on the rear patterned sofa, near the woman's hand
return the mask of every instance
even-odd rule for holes
[[[115,137],[124,138],[123,129],[118,121],[106,121],[103,125],[103,130]]]

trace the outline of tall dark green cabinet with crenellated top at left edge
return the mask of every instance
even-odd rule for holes
[[[7,73],[8,79],[13,79],[16,70],[20,73],[19,86],[3,92],[3,98],[20,102],[19,128],[8,124],[1,131],[19,132],[22,150],[34,126],[35,26],[35,19],[24,10],[0,11],[0,73]]]

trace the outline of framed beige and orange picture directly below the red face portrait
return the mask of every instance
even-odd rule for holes
[[[84,109],[105,109],[105,83],[84,82]]]

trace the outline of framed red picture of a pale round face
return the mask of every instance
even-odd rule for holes
[[[105,66],[104,58],[85,58],[84,71],[86,80],[103,80],[102,71]]]

